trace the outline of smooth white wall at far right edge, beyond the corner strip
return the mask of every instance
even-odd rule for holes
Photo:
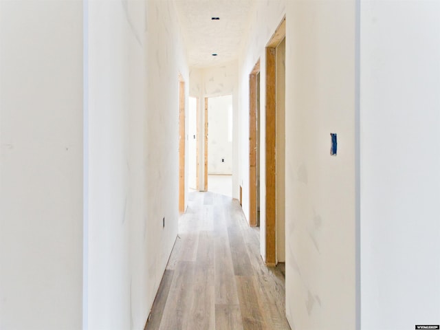
[[[440,323],[440,3],[362,1],[362,329]]]

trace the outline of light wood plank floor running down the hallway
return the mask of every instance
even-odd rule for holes
[[[145,329],[290,329],[283,267],[265,267],[238,201],[189,196]]]

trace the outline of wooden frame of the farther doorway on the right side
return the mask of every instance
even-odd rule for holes
[[[257,134],[259,128],[257,124],[258,111],[258,75],[260,72],[260,60],[256,62],[254,69],[249,75],[249,225],[255,227],[257,223]]]

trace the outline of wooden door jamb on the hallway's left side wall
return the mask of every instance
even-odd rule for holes
[[[179,212],[185,212],[185,83],[179,78]]]

